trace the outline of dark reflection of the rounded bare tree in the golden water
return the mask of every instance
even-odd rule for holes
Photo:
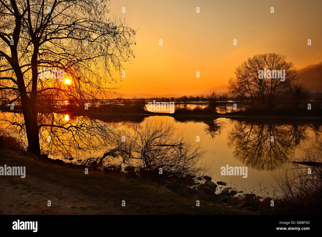
[[[295,147],[308,138],[308,124],[232,122],[228,146],[244,165],[259,171],[272,171],[294,157]],[[271,139],[274,142],[271,142]]]

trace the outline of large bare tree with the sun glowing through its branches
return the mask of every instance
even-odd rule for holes
[[[24,115],[21,121],[3,120],[25,130],[27,151],[40,153],[42,131],[52,137],[69,132],[72,139],[76,132],[93,134],[91,128],[108,134],[94,120],[64,121],[40,105],[68,99],[84,106],[93,98],[109,97],[113,89],[107,85],[116,82],[114,74],[120,78],[122,64],[134,57],[130,47],[135,31],[109,17],[107,0],[0,0],[0,4],[1,100],[20,106]],[[64,70],[60,77],[65,82],[57,74],[39,76],[43,68]]]

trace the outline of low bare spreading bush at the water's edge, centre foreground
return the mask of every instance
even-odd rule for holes
[[[163,170],[167,177],[201,176],[208,171],[202,162],[205,150],[200,143],[187,139],[173,123],[146,119],[122,132],[102,157],[150,174]],[[122,134],[123,137],[122,137]]]

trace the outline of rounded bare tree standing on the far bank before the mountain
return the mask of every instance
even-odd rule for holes
[[[260,70],[266,70],[262,74],[265,76],[260,76]],[[283,73],[283,70],[285,78],[281,80],[281,74],[279,76],[277,72]],[[241,97],[251,107],[274,108],[288,85],[296,79],[296,69],[283,55],[257,54],[236,67],[235,75],[228,81],[230,93]]]

